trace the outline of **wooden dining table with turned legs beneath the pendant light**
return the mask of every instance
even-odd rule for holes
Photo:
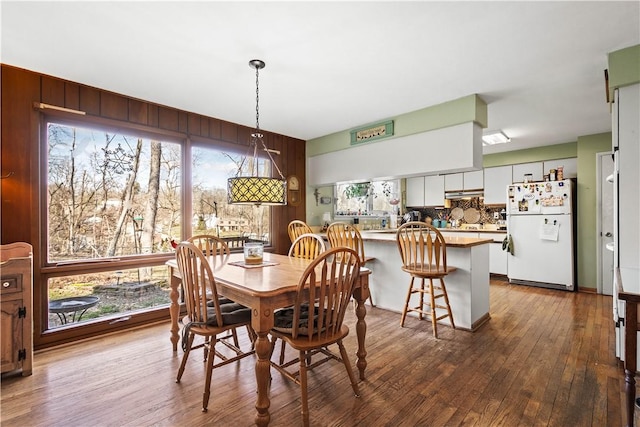
[[[243,264],[243,261],[244,255],[242,253],[232,253],[227,256],[210,257],[209,263],[216,279],[218,293],[251,308],[251,325],[257,333],[255,375],[258,393],[255,424],[266,426],[271,419],[269,413],[271,378],[269,331],[273,328],[273,314],[277,309],[293,304],[298,282],[311,260],[265,253],[262,266],[239,265]],[[169,267],[171,284],[171,305],[169,308],[171,344],[173,351],[177,352],[181,310],[179,296],[182,279],[175,259],[167,261],[166,265]],[[371,271],[367,268],[360,270],[360,278],[353,292],[353,298],[356,301],[356,335],[358,339],[356,366],[361,380],[365,378],[367,366],[367,352],[365,350],[367,325],[364,302],[369,297],[370,274]]]

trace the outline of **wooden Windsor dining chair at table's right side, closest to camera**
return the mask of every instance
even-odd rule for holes
[[[271,365],[300,386],[305,426],[309,425],[307,371],[330,360],[342,362],[353,392],[360,395],[342,342],[349,334],[343,320],[359,275],[360,257],[356,251],[346,247],[329,249],[316,257],[300,277],[294,305],[274,313],[271,354],[281,339],[297,350],[298,356],[286,363],[272,361]],[[329,348],[334,344],[339,355]],[[299,367],[293,369],[296,364]]]

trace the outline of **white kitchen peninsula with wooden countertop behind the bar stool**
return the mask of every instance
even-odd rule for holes
[[[395,231],[363,231],[361,234],[365,254],[375,258],[367,267],[372,271],[369,289],[376,307],[401,313],[410,276],[401,269]],[[447,264],[457,268],[444,279],[456,329],[475,331],[490,319],[489,244],[493,240],[445,237],[445,242]]]

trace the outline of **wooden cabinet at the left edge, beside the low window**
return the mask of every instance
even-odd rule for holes
[[[0,358],[2,373],[21,369],[31,375],[33,365],[31,245],[0,246]]]

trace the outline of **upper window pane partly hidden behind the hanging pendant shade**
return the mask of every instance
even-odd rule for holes
[[[193,234],[213,234],[240,247],[247,240],[270,244],[268,206],[227,204],[227,179],[234,177],[243,155],[211,147],[192,149]],[[260,175],[269,174],[270,162],[259,160]],[[265,172],[266,171],[266,172]]]

